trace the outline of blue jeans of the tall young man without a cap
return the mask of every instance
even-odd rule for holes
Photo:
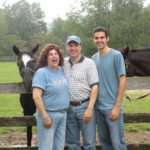
[[[123,113],[117,120],[110,120],[111,110],[96,110],[98,136],[102,150],[127,150],[124,141]]]

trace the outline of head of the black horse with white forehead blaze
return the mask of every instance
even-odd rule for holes
[[[27,92],[31,91],[32,78],[36,69],[36,57],[34,54],[37,52],[38,47],[39,45],[37,44],[30,51],[20,51],[15,45],[13,46],[13,51],[18,57],[19,72]]]

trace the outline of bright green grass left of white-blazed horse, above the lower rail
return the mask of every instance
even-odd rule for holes
[[[16,62],[0,62],[0,83],[20,82]],[[0,116],[21,116],[19,94],[0,94]]]

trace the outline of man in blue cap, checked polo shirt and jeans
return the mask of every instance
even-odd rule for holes
[[[80,131],[85,150],[95,150],[94,104],[98,94],[98,72],[95,63],[81,55],[78,36],[69,36],[64,72],[69,83],[70,107],[67,115],[66,142],[68,150],[80,150]]]

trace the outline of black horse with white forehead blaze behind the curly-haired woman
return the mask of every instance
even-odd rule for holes
[[[13,51],[17,55],[17,65],[19,73],[23,79],[24,87],[28,93],[20,94],[20,103],[23,108],[24,116],[33,115],[36,107],[32,98],[31,86],[32,78],[36,70],[35,53],[39,45],[36,45],[30,51],[20,51],[16,46],[13,46]],[[31,146],[32,141],[32,126],[27,127],[27,146]]]

